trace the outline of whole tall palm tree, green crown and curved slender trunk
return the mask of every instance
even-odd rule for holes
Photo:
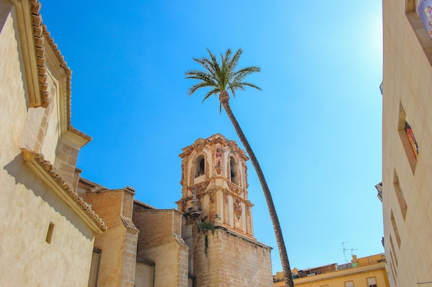
[[[268,212],[270,213],[271,221],[273,223],[273,230],[275,231],[277,248],[279,249],[282,269],[284,271],[285,284],[286,286],[294,287],[291,267],[288,261],[288,255],[286,254],[284,237],[282,236],[282,229],[280,228],[279,219],[277,218],[275,204],[273,204],[273,198],[271,197],[270,189],[268,189],[266,179],[264,178],[264,173],[259,166],[259,162],[255,156],[255,153],[253,153],[251,145],[249,145],[246,136],[244,136],[242,128],[240,127],[233,114],[233,111],[231,110],[229,103],[230,95],[227,91],[229,90],[231,94],[233,94],[233,97],[235,97],[235,91],[237,89],[244,90],[245,87],[253,87],[255,89],[261,90],[253,83],[244,81],[246,76],[255,72],[259,72],[261,69],[259,67],[251,66],[236,70],[240,56],[242,56],[242,49],[237,50],[234,55],[232,55],[230,49],[226,50],[225,54],[220,55],[221,63],[217,62],[215,55],[210,50],[207,49],[207,52],[210,55],[210,58],[204,57],[202,59],[193,59],[193,61],[202,65],[205,70],[190,70],[185,74],[186,78],[193,78],[199,81],[199,83],[190,87],[188,94],[190,96],[201,88],[210,88],[210,91],[208,91],[206,96],[204,96],[204,100],[212,95],[216,96],[219,94],[219,112],[221,112],[222,107],[224,107],[228,118],[230,119],[235,131],[237,132],[237,135],[240,138],[240,141],[251,158],[251,162],[255,168],[255,171],[257,172],[259,182],[261,183],[262,191],[264,192],[264,197],[266,198],[268,206]]]

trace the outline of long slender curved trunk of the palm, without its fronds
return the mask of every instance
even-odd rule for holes
[[[266,178],[264,178],[264,173],[262,172],[262,169],[259,166],[259,162],[255,156],[255,153],[253,153],[251,145],[249,145],[246,136],[244,136],[242,128],[237,122],[237,119],[235,118],[233,111],[231,111],[229,99],[230,96],[228,92],[222,91],[219,94],[219,100],[224,106],[226,114],[228,115],[228,118],[233,124],[235,132],[237,133],[237,136],[239,136],[240,141],[242,142],[244,148],[246,149],[246,152],[248,153],[248,156],[251,158],[252,165],[255,168],[255,171],[257,172],[259,183],[261,184],[262,191],[264,192],[264,197],[266,198],[267,207],[268,207],[268,213],[270,213],[271,222],[273,223],[273,230],[275,231],[277,248],[279,249],[279,256],[282,264],[282,270],[284,271],[285,286],[294,287],[293,275],[291,274],[291,267],[289,264],[288,255],[286,254],[284,237],[282,235],[282,229],[280,228],[279,219],[277,218],[275,204],[273,203],[273,198],[271,197],[270,189],[268,189]]]

